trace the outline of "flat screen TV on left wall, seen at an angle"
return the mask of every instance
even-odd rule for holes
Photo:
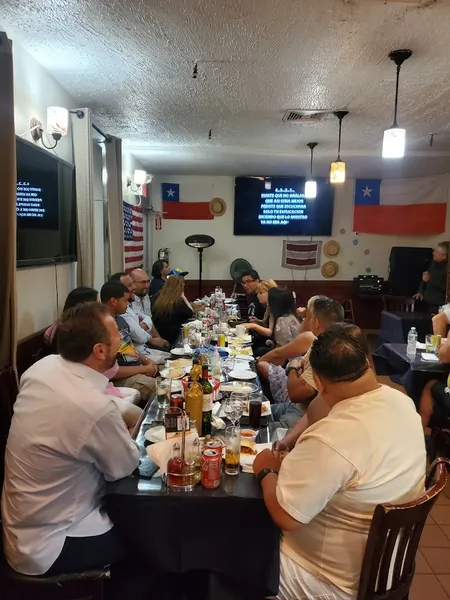
[[[75,169],[21,138],[17,149],[17,266],[77,260]]]

